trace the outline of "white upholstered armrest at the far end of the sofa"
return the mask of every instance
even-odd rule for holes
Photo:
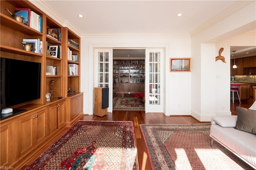
[[[223,115],[214,116],[211,119],[211,125],[218,124],[221,127],[236,127],[237,116],[234,115]]]

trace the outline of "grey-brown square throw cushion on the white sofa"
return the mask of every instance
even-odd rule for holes
[[[236,129],[256,134],[256,111],[243,107],[236,107]]]

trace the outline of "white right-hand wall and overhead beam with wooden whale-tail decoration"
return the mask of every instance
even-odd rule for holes
[[[255,6],[254,1],[191,39],[192,57],[198,64],[200,63],[200,67],[193,70],[191,75],[191,115],[196,119],[210,121],[214,115],[231,114],[230,46],[248,45],[248,42],[253,41],[254,43],[250,45],[255,45],[255,34],[238,36],[252,30],[255,32]],[[238,38],[234,40],[236,36]],[[215,62],[221,47],[224,47],[222,56],[226,57],[227,63]]]

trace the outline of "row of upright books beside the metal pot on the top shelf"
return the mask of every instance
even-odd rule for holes
[[[16,8],[14,14],[24,18],[23,24],[42,32],[42,17],[32,11],[30,8]]]

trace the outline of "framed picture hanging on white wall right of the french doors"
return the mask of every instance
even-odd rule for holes
[[[190,72],[191,58],[170,58],[170,72]]]

